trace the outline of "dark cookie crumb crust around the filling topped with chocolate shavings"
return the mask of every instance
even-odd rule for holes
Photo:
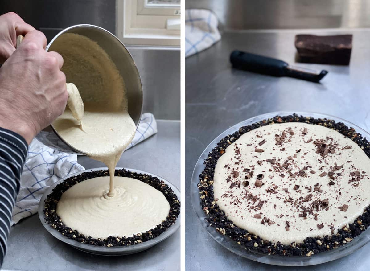
[[[354,128],[349,128],[343,123],[336,123],[334,120],[328,119],[314,119],[312,117],[298,116],[297,114],[289,116],[276,116],[267,120],[262,120],[258,123],[253,123],[249,126],[243,126],[239,128],[239,131],[224,137],[216,147],[208,154],[205,159],[205,169],[199,175],[199,193],[201,197],[201,203],[203,211],[208,216],[206,220],[209,225],[216,228],[222,235],[230,237],[232,240],[238,242],[238,244],[245,247],[246,250],[258,251],[264,254],[276,254],[276,255],[303,255],[311,256],[319,252],[332,250],[334,248],[345,245],[347,242],[353,240],[354,237],[360,235],[370,225],[369,208],[367,207],[363,214],[356,218],[354,223],[345,225],[342,229],[338,229],[337,234],[331,236],[326,235],[323,238],[307,237],[302,243],[296,244],[293,242],[290,245],[282,245],[280,242],[272,243],[268,240],[262,240],[259,236],[249,234],[247,230],[239,228],[233,224],[231,220],[228,220],[225,213],[219,209],[213,197],[213,175],[218,159],[225,153],[226,148],[238,140],[238,138],[258,127],[266,126],[275,123],[287,123],[287,122],[301,122],[308,124],[321,125],[327,128],[338,131],[344,136],[354,141],[365,154],[370,158],[370,143],[363,138],[361,134],[356,133]]]

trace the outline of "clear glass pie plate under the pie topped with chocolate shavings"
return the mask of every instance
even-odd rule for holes
[[[334,120],[336,122],[342,122],[348,127],[353,127],[357,133],[360,133],[364,138],[370,139],[370,134],[361,129],[360,127],[350,123],[349,121],[343,120],[342,118],[320,114],[320,113],[310,113],[310,112],[287,112],[287,111],[278,111],[267,113],[263,115],[259,115],[256,117],[249,118],[248,120],[242,121],[234,126],[230,127],[228,130],[224,131],[218,137],[216,137],[203,151],[202,155],[199,157],[193,174],[191,178],[191,203],[196,215],[199,218],[200,223],[206,229],[206,231],[211,235],[211,237],[222,245],[227,250],[242,256],[244,258],[248,258],[249,260],[262,262],[265,264],[272,264],[272,265],[280,265],[280,266],[306,266],[306,265],[315,265],[315,264],[322,264],[324,262],[333,261],[339,258],[342,258],[346,255],[353,253],[354,251],[358,250],[359,248],[363,247],[370,241],[370,230],[367,229],[359,236],[355,237],[353,241],[348,242],[346,245],[336,248],[331,251],[324,251],[318,253],[316,255],[312,255],[310,257],[306,256],[280,256],[280,255],[267,255],[263,254],[262,252],[257,251],[248,251],[242,245],[239,245],[237,242],[233,241],[226,235],[222,235],[216,231],[215,228],[209,226],[208,221],[205,220],[207,215],[203,212],[200,203],[200,194],[198,190],[197,184],[199,183],[199,174],[202,173],[204,170],[203,161],[208,157],[208,154],[211,152],[212,148],[216,146],[222,138],[225,136],[238,131],[240,127],[250,125],[256,123],[258,121],[262,121],[268,118],[272,118],[275,116],[287,116],[296,113],[298,116],[304,117],[313,117],[313,118],[327,118],[330,120]]]

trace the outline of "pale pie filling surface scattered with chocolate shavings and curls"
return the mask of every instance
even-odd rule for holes
[[[213,193],[236,226],[287,245],[353,223],[370,203],[369,170],[364,151],[337,131],[272,124],[226,148]]]

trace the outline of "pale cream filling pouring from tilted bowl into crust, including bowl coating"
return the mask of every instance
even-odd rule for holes
[[[131,236],[154,228],[169,213],[164,195],[141,181],[114,177],[118,160],[136,131],[117,67],[97,43],[77,34],[61,35],[50,50],[64,57],[62,71],[77,86],[84,104],[83,129],[78,120],[81,107],[74,98],[72,108],[65,108],[53,126],[74,148],[107,165],[110,174],[65,191],[58,215],[68,227],[95,238]]]

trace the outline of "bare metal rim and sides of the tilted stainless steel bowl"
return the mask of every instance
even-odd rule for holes
[[[50,41],[46,47],[46,51],[48,51],[53,43],[55,43],[55,41],[57,41],[58,38],[65,33],[75,33],[88,37],[89,39],[98,43],[98,45],[108,54],[113,63],[117,66],[125,82],[128,98],[128,113],[130,114],[137,128],[142,113],[142,85],[135,61],[124,44],[112,33],[101,27],[91,24],[78,24],[60,31],[54,37],[54,39]],[[65,61],[68,60],[65,59]],[[84,76],[89,77],[90,74],[87,73],[84,74]],[[64,141],[54,129],[53,125],[46,127],[43,131],[36,135],[36,138],[48,147],[54,148],[58,151],[63,151],[65,153],[85,154],[83,151],[77,150]]]

